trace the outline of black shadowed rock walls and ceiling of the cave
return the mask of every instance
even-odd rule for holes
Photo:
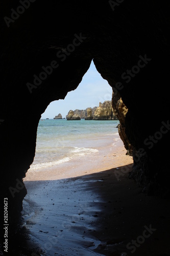
[[[1,17],[10,17],[18,1],[2,1]],[[54,100],[75,90],[93,59],[96,70],[115,90],[113,108],[120,121],[120,137],[133,157],[131,178],[151,195],[169,196],[170,133],[149,149],[143,143],[169,123],[169,5],[168,1],[125,1],[113,8],[108,1],[36,1],[8,28],[1,19],[1,203],[9,198],[13,219],[22,209],[26,188],[13,198],[9,187],[25,177],[34,160],[37,126],[41,114]],[[64,61],[56,57],[75,39],[79,46]],[[128,83],[126,70],[137,65],[139,56],[151,61]],[[57,60],[59,67],[32,93],[26,86],[33,75]],[[124,110],[128,109],[126,116]],[[122,135],[121,135],[122,133]]]

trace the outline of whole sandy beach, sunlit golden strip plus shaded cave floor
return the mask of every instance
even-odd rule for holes
[[[22,255],[170,255],[169,202],[127,179],[132,157],[122,141],[77,160],[50,173],[28,172]],[[143,238],[146,228],[152,234]]]

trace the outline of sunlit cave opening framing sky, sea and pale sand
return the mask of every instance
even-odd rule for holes
[[[119,121],[84,120],[87,108],[91,108],[94,116],[99,102],[106,102],[106,106],[101,105],[98,116],[101,114],[102,119],[107,112],[108,119],[111,116],[115,119],[111,99],[112,88],[92,61],[79,87],[69,92],[64,100],[52,102],[42,114],[34,162],[25,181],[72,178],[92,170],[99,172],[124,165],[124,157],[120,155],[125,155],[126,150],[122,148],[121,154],[119,152],[123,146],[117,131]],[[69,110],[74,110],[82,119],[66,120]]]

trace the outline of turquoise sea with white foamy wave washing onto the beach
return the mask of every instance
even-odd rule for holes
[[[47,169],[76,157],[98,154],[101,147],[116,142],[119,121],[41,119],[31,170]]]

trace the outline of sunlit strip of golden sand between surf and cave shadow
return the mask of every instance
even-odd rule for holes
[[[114,143],[108,143],[96,149],[98,149],[98,153],[77,156],[68,162],[53,166],[47,170],[32,171],[29,169],[23,182],[49,180],[49,177],[50,180],[75,178],[133,162],[132,157],[126,155],[126,149],[120,138],[115,138]]]

